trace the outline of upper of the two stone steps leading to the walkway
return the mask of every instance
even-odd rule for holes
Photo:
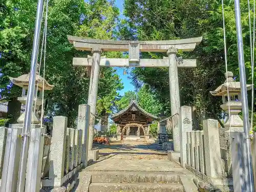
[[[90,172],[92,183],[179,183],[175,172]]]

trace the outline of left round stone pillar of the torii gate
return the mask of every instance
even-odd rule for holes
[[[90,79],[90,87],[89,87],[89,96],[88,96],[88,104],[91,106],[91,113],[96,114],[96,101],[98,94],[98,84],[99,84],[99,72],[100,72],[100,55],[102,53],[99,47],[95,47],[92,49],[93,53],[93,62],[92,62],[92,70],[91,70],[91,79]],[[89,129],[89,147],[88,150],[91,151],[93,147],[93,134],[94,134],[94,123],[95,116],[91,116],[91,123]]]

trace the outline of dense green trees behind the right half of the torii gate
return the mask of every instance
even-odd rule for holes
[[[225,23],[228,70],[239,76],[236,24],[234,20],[234,2],[225,3]],[[248,83],[250,49],[247,1],[241,2],[241,16],[244,36],[245,65]],[[250,1],[253,5],[253,1]],[[251,11],[251,18],[253,18]],[[125,0],[124,15],[127,17],[126,26],[137,32],[138,40],[168,40],[203,36],[203,40],[193,52],[178,52],[183,58],[197,58],[197,68],[179,69],[179,88],[181,105],[193,105],[199,119],[222,116],[220,97],[213,97],[209,91],[215,90],[224,82],[224,40],[221,1],[168,1],[168,0]],[[120,33],[125,36],[125,34]],[[131,35],[133,37],[133,35]],[[122,38],[122,37],[120,37]],[[161,58],[162,53],[143,53],[143,58]],[[254,74],[255,75],[255,74]],[[168,69],[164,68],[135,68],[132,80],[137,89],[148,84],[150,90],[162,104],[164,111],[170,114]],[[254,77],[254,80],[256,78]],[[255,82],[254,82],[255,83]]]

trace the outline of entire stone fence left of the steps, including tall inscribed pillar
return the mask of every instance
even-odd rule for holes
[[[40,124],[31,124],[25,192],[70,191],[78,172],[88,163],[90,106],[79,105],[77,129],[67,127],[67,117],[53,119],[52,137]],[[0,191],[17,189],[23,124],[0,127]],[[2,179],[2,180],[1,180]]]

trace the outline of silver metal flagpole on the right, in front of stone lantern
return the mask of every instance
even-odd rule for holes
[[[244,48],[243,48],[243,36],[242,36],[242,24],[240,13],[240,0],[234,0],[234,10],[236,15],[236,28],[237,28],[237,41],[238,41],[238,60],[239,60],[239,72],[241,81],[241,96],[242,96],[242,109],[244,120],[244,135],[245,135],[245,150],[243,150],[244,166],[240,167],[244,169],[244,186],[245,192],[254,191],[253,172],[252,172],[252,159],[251,159],[251,146],[250,146],[250,124],[248,113],[248,101],[247,101],[247,89],[246,89],[246,75],[245,75],[245,63],[244,63]]]

